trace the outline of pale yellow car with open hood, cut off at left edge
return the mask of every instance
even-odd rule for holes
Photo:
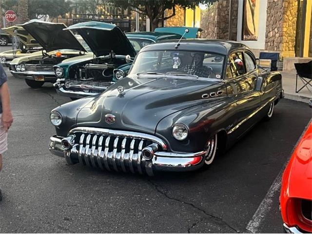
[[[0,62],[2,66],[8,67],[13,59],[28,56],[30,53],[42,49],[39,43],[21,26],[15,25],[2,28],[2,30],[12,37],[16,35],[20,40],[20,49],[0,52]]]

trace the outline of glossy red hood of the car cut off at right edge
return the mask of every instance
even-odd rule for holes
[[[287,166],[287,192],[290,197],[312,199],[312,121]]]

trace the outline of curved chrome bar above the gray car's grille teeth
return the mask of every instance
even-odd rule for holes
[[[69,131],[68,135],[71,135],[76,132],[82,132],[86,134],[102,134],[102,135],[109,135],[114,137],[134,137],[141,140],[151,140],[159,144],[162,150],[167,150],[167,144],[160,139],[159,137],[155,137],[153,135],[145,134],[145,133],[137,133],[137,132],[129,132],[129,131],[121,131],[121,130],[112,130],[112,129],[105,129],[105,128],[92,128],[92,127],[77,127],[73,128]]]

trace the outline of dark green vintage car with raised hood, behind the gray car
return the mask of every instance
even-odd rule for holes
[[[179,27],[179,30],[181,28],[185,30],[186,27]],[[84,22],[68,29],[78,32],[96,56],[72,59],[54,66],[55,74],[59,77],[54,84],[57,92],[71,99],[98,95],[125,77],[142,47],[182,37],[173,32],[124,34],[116,25],[103,22]]]

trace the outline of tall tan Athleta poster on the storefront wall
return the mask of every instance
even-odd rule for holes
[[[242,40],[258,40],[260,0],[243,1]]]

